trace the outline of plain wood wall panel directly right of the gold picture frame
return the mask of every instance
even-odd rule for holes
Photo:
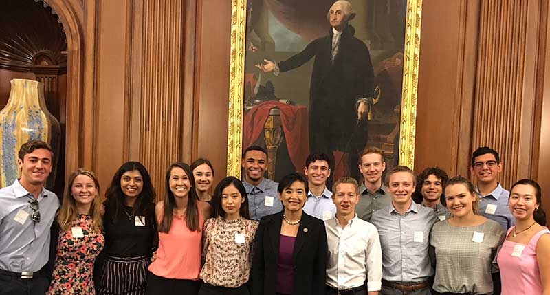
[[[415,167],[440,166],[454,175],[464,172],[458,163],[470,146],[471,90],[464,87],[472,87],[475,76],[478,1],[422,4]]]

